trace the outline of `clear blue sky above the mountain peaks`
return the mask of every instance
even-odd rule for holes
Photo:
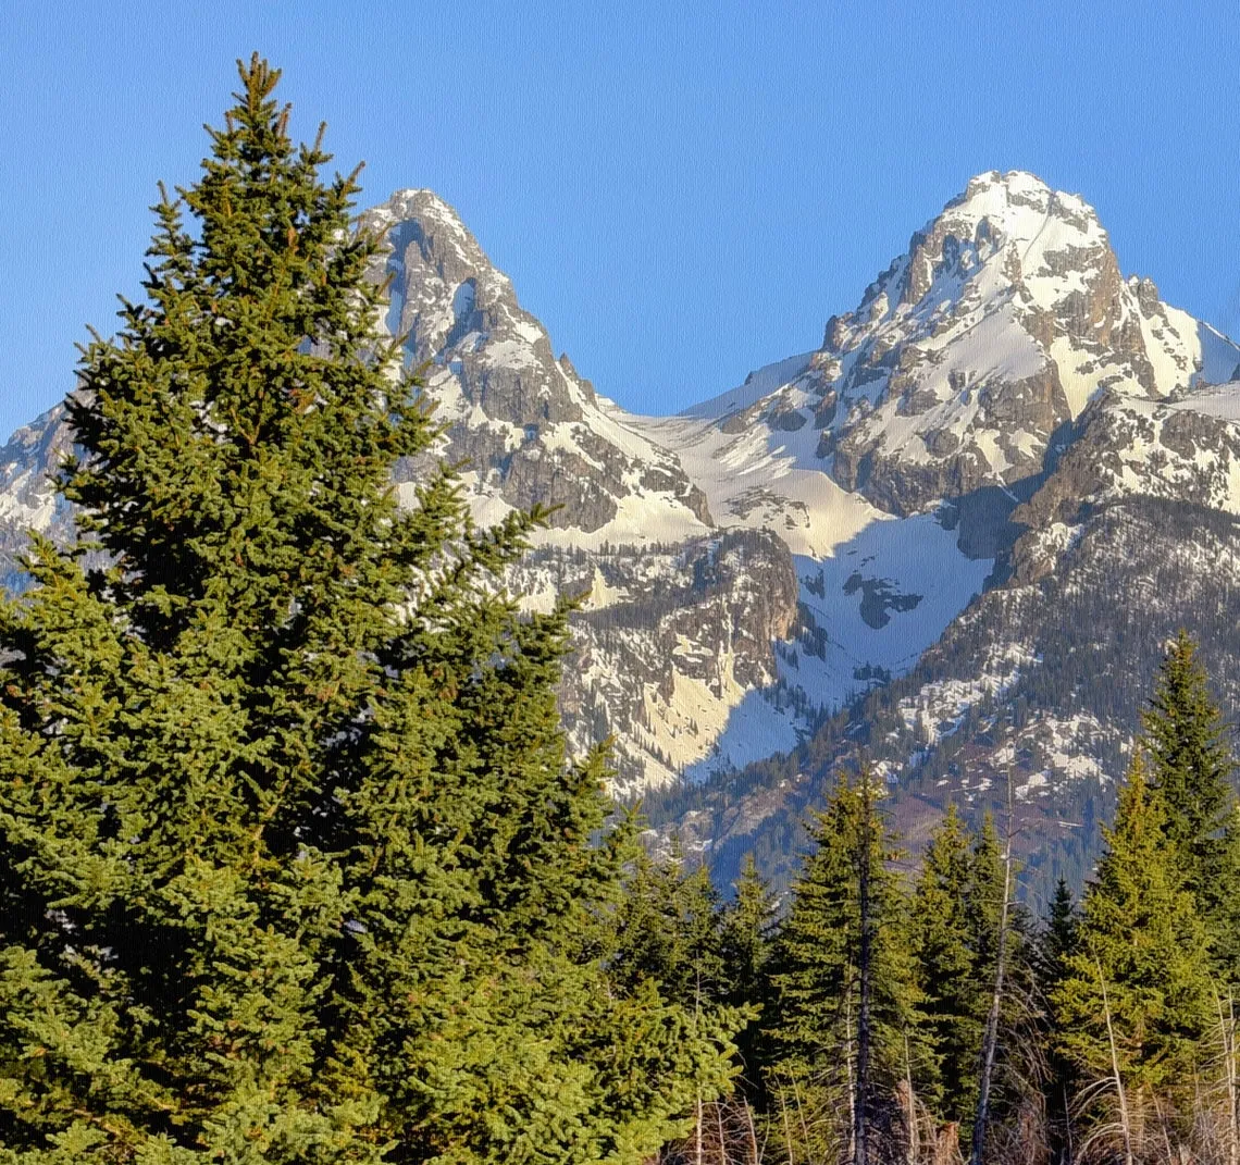
[[[1083,194],[1125,273],[1240,333],[1240,6],[15,0],[0,37],[0,429],[135,294],[234,58],[366,201],[454,203],[558,350],[670,412],[817,346],[988,169]]]

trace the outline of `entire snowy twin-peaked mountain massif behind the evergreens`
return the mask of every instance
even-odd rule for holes
[[[666,790],[724,873],[861,748],[914,837],[999,774],[1047,821],[1105,800],[1182,623],[1240,706],[1240,349],[1125,278],[1079,196],[975,177],[817,349],[678,417],[600,396],[430,191],[362,222],[477,520],[558,507],[511,583],[584,596],[574,746],[613,737],[618,792]],[[72,529],[68,444],[57,408],[0,450],[10,587],[29,529]],[[1030,832],[1048,871],[1089,851],[1064,828]]]

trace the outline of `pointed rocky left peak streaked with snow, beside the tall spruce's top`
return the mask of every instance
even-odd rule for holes
[[[554,357],[542,324],[446,202],[403,191],[362,222],[387,241],[373,272],[392,280],[387,326],[408,336],[410,366],[429,366],[444,452],[467,462],[492,516],[541,502],[560,507],[553,526],[603,537],[637,500],[652,527],[656,510],[681,536],[713,525],[676,457],[600,407],[568,359]]]

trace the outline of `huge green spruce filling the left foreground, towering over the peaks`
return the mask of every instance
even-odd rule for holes
[[[379,241],[239,68],[84,352],[82,540],[0,603],[0,1161],[644,1160],[727,1032],[605,974],[565,609],[500,587],[539,515],[397,507],[436,429]]]

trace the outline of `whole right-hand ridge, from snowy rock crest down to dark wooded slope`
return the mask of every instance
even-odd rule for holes
[[[1025,886],[1079,882],[1131,756],[1168,639],[1185,628],[1225,718],[1240,712],[1240,382],[1162,401],[1106,390],[1063,437],[986,592],[903,677],[787,761],[662,806],[723,870],[797,823],[864,756],[914,844],[947,800],[1003,811],[1011,779]],[[789,842],[787,839],[794,839]]]

